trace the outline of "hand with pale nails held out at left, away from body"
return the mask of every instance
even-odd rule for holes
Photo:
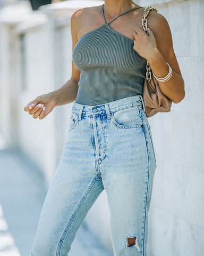
[[[24,110],[28,111],[33,118],[43,119],[45,118],[57,105],[52,93],[47,93],[38,96],[35,100],[30,101]]]

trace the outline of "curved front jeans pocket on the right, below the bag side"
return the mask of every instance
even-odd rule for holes
[[[135,128],[143,125],[139,108],[136,106],[117,110],[111,114],[111,118],[120,128]]]

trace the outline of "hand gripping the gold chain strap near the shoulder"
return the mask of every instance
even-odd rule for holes
[[[133,49],[140,54],[141,57],[146,60],[150,57],[152,52],[157,48],[156,39],[154,33],[147,28],[148,35],[139,27],[134,27],[134,47]]]

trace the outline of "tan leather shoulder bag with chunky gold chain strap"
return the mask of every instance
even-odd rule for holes
[[[147,33],[147,15],[151,10],[158,12],[156,8],[148,6],[146,7],[142,15],[142,26],[146,34]],[[151,67],[147,61],[147,73],[146,79],[143,84],[143,101],[145,104],[145,111],[147,117],[153,116],[158,112],[169,112],[172,106],[172,100],[168,99],[160,90],[157,79],[151,76]]]

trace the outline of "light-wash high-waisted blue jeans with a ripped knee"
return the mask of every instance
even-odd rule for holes
[[[114,256],[146,256],[155,169],[141,95],[97,106],[73,102],[31,255],[67,255],[82,220],[105,188]],[[129,245],[128,238],[135,243]]]

